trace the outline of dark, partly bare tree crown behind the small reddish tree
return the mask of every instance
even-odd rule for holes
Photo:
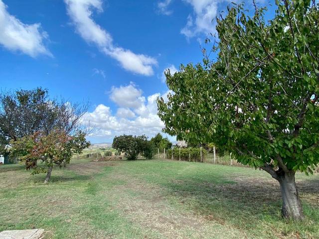
[[[10,140],[41,131],[48,135],[52,130],[64,130],[74,134],[82,130],[88,133],[88,125],[80,121],[88,104],[72,104],[63,99],[49,99],[42,88],[0,93],[0,153],[8,153]]]

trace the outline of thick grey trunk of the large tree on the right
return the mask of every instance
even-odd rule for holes
[[[279,178],[280,189],[283,199],[282,215],[284,218],[296,221],[305,218],[300,203],[295,180],[295,172],[290,171]]]

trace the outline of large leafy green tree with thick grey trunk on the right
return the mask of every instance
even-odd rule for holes
[[[243,164],[278,180],[282,215],[304,218],[297,171],[319,163],[319,5],[310,0],[276,1],[252,16],[233,5],[217,18],[216,58],[166,73],[168,101],[158,100],[164,131],[177,138],[214,142]],[[210,51],[209,51],[210,52]]]

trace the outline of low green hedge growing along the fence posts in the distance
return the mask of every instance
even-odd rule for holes
[[[171,158],[171,149],[167,150],[167,157]],[[202,149],[203,159],[205,158],[207,152],[206,150]],[[190,160],[189,160],[190,156]],[[173,148],[173,159],[179,159],[179,148]],[[192,162],[200,162],[200,148],[180,148],[180,160],[184,161],[192,161]]]

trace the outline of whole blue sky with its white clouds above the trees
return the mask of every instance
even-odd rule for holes
[[[156,104],[168,94],[163,72],[202,61],[212,19],[230,2],[0,0],[0,89],[42,87],[52,98],[89,101],[93,143],[152,137],[164,127]],[[246,8],[253,12],[251,1]]]

